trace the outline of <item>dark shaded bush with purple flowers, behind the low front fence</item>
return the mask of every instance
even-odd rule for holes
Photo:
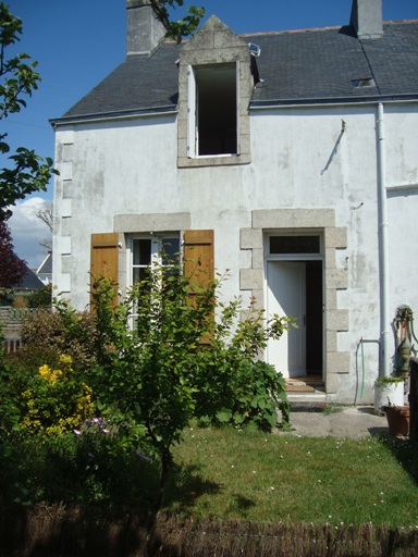
[[[122,429],[89,420],[76,433],[14,432],[0,440],[0,505],[101,504],[109,510],[150,503],[158,463],[127,448]]]

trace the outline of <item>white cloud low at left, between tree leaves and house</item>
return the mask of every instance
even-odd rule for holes
[[[17,201],[15,207],[11,208],[13,214],[8,224],[12,232],[14,251],[30,269],[38,268],[47,255],[46,248],[40,246],[39,242],[50,238],[51,234],[36,213],[48,205],[50,202],[46,199],[30,197]]]

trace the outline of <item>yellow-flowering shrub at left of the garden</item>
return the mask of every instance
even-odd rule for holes
[[[93,391],[74,375],[71,356],[60,355],[60,369],[45,364],[39,368],[29,388],[22,393],[26,413],[24,429],[47,435],[72,431],[93,416]]]

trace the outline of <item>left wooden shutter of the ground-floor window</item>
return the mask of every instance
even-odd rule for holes
[[[90,273],[91,282],[95,278],[106,277],[114,283],[118,288],[118,259],[119,235],[118,233],[91,234]],[[118,304],[118,295],[114,305]]]

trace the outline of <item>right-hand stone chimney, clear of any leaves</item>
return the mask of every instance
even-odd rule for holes
[[[382,0],[353,0],[349,24],[359,40],[383,36]]]

